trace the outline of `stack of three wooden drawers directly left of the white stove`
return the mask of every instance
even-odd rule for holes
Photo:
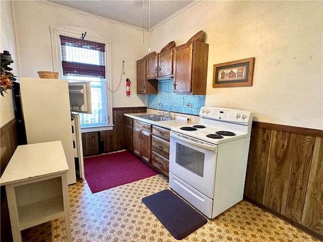
[[[169,176],[170,131],[152,126],[151,165]]]

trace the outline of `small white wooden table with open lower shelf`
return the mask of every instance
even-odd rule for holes
[[[65,218],[72,241],[67,171],[61,141],[20,145],[0,178],[6,186],[14,242],[21,230],[58,217]]]

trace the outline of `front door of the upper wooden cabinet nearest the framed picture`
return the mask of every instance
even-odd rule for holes
[[[174,92],[191,92],[193,42],[174,49]]]

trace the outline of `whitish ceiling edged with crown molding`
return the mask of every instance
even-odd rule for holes
[[[146,30],[156,27],[200,0],[47,1]]]

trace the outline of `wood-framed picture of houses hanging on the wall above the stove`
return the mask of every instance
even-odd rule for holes
[[[252,86],[254,57],[213,65],[212,87]]]

